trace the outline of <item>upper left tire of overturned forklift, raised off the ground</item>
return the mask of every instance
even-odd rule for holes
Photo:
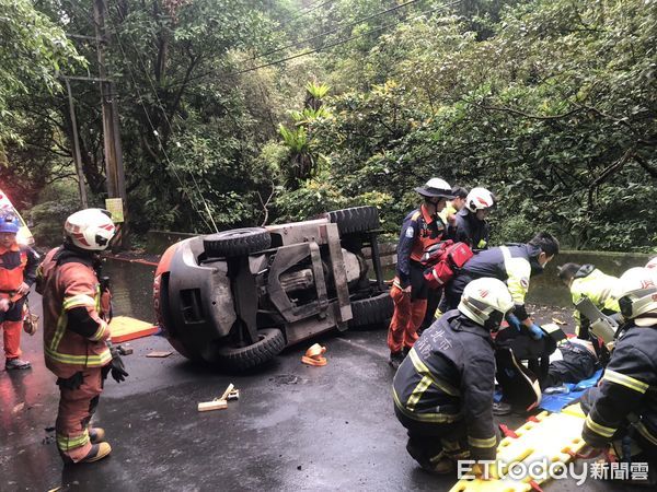
[[[208,234],[203,247],[209,257],[251,255],[272,246],[269,231],[263,227],[244,227]]]

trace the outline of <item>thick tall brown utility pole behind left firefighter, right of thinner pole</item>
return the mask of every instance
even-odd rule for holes
[[[105,167],[107,174],[108,198],[120,198],[125,222],[117,232],[115,242],[117,249],[128,247],[127,241],[127,197],[126,180],[123,167],[123,152],[120,147],[120,132],[118,129],[118,107],[116,104],[116,92],[114,84],[107,80],[105,69],[105,14],[107,7],[105,0],[93,1],[93,14],[95,24],[95,39],[99,57],[99,79],[101,86],[101,102],[103,107],[103,139],[105,144]]]

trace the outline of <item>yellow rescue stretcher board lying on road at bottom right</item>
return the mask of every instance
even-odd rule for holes
[[[500,478],[489,480],[462,479],[450,492],[527,492],[550,479],[550,464],[567,464],[585,445],[581,427],[585,415],[579,405],[566,407],[561,413],[541,412],[531,417],[516,431],[509,431],[497,447],[496,461]],[[522,465],[516,465],[522,464]],[[525,477],[517,471],[531,470]]]

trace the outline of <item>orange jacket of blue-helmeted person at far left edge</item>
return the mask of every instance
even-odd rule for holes
[[[32,286],[36,279],[38,255],[28,246],[0,246],[0,293],[16,301],[16,290],[25,282]]]

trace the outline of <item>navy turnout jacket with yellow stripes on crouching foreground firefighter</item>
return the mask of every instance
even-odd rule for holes
[[[494,374],[489,331],[453,309],[423,332],[400,365],[394,403],[418,422],[462,421],[471,457],[495,459]]]

